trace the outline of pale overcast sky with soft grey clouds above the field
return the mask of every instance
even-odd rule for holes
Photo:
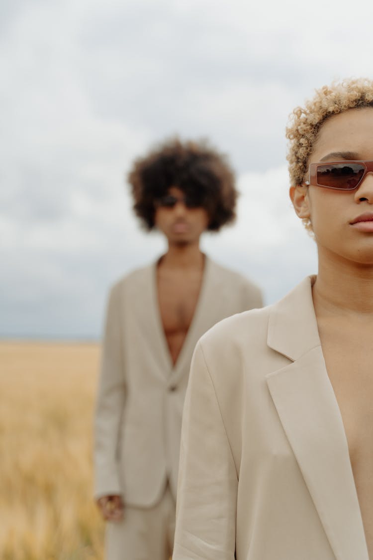
[[[237,172],[238,220],[202,246],[267,303],[317,272],[287,191],[291,110],[373,77],[371,2],[3,0],[0,335],[98,337],[107,290],[164,250],[131,214],[133,158],[207,137]]]

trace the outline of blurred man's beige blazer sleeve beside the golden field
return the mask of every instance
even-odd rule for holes
[[[121,494],[118,441],[125,403],[120,285],[108,298],[95,412],[95,497]]]

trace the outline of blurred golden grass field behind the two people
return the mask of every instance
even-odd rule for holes
[[[98,344],[0,342],[0,558],[101,560],[92,499]]]

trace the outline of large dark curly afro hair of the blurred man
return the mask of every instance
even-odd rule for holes
[[[228,159],[205,141],[171,138],[134,161],[128,174],[134,211],[147,230],[154,228],[155,203],[177,186],[209,215],[207,230],[235,219],[238,192]]]

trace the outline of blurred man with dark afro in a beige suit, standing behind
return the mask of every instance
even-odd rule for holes
[[[181,418],[193,349],[217,321],[260,307],[261,292],[200,250],[235,217],[225,157],[178,139],[137,160],[134,210],[167,253],[112,288],[96,410],[96,498],[108,560],[172,554]]]

